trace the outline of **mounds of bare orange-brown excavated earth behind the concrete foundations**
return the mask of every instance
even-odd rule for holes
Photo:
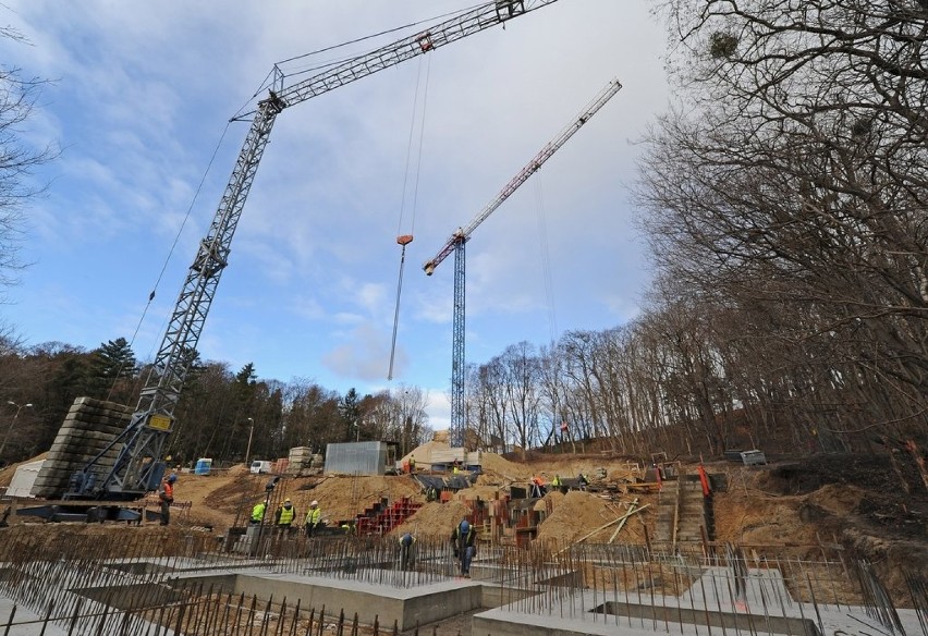
[[[643,545],[646,527],[654,536],[658,496],[626,492],[639,475],[626,457],[562,454],[521,462],[485,453],[483,467],[474,487],[461,491],[459,498],[492,500],[512,485],[524,486],[533,475],[550,480],[554,475],[583,472],[595,476],[605,469],[606,478],[594,481],[598,492],[551,492],[537,503],[546,513],[538,540],[606,542],[614,526],[597,528],[624,514],[636,499],[639,506],[651,505],[630,517],[615,540]],[[719,462],[706,468],[719,477],[717,482],[725,484],[713,496],[718,541],[765,546],[771,552],[779,546],[802,547],[807,553],[801,556],[810,559],[821,556],[821,547],[840,548],[852,559],[871,561],[894,596],[903,595],[903,570],[928,572],[928,488],[920,479],[904,478],[887,456],[822,455],[757,467]],[[695,465],[682,469],[694,472]],[[0,486],[9,485],[14,470],[15,465],[0,472]],[[137,530],[170,536],[194,529],[222,535],[245,524],[254,503],[265,499],[268,478],[251,475],[244,467],[206,476],[183,473],[175,496],[188,506],[167,528],[144,526]],[[424,505],[394,531],[412,529],[437,537],[450,535],[467,510],[457,500],[426,503],[418,482],[405,475],[286,477],[274,489],[272,502],[283,498],[293,500],[301,516],[309,501],[317,500],[329,523],[351,518],[381,498],[391,502],[410,498]],[[73,534],[107,536],[127,530],[117,524],[45,524],[39,531],[53,543]],[[2,534],[0,530],[0,537]]]

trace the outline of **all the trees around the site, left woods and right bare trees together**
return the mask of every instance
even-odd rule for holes
[[[472,365],[465,439],[602,439],[639,456],[925,448],[928,0],[654,8],[674,97],[639,139],[633,196],[655,272],[643,310]],[[608,289],[621,273],[597,276]],[[11,444],[29,453],[103,384],[85,374],[94,353],[7,348],[0,394],[33,403],[19,418],[42,424]],[[191,374],[172,450],[234,458],[248,417],[256,454],[359,436],[410,448],[427,430],[415,394],[342,396],[209,363]]]

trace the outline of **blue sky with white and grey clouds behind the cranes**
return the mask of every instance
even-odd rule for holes
[[[24,134],[63,148],[35,175],[48,189],[27,209],[22,257],[32,265],[10,290],[5,319],[28,344],[86,348],[138,329],[133,348],[150,359],[247,132],[247,122],[228,122],[266,95],[273,64],[472,5],[5,2],[0,22],[29,44],[0,41],[4,62],[54,80]],[[483,363],[523,340],[545,344],[633,318],[648,272],[626,188],[634,142],[668,100],[664,41],[645,0],[560,0],[285,109],[235,233],[203,357],[342,392],[419,386],[430,425],[444,428],[453,257],[432,277],[422,264],[611,78],[623,84],[619,95],[472,235],[466,357]],[[388,381],[395,238],[407,233],[415,240]]]

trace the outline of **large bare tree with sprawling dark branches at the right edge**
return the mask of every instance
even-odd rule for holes
[[[867,407],[844,407],[845,423],[924,426],[928,10],[684,4],[663,8],[686,108],[649,135],[637,189],[656,261],[740,316],[715,351],[776,371],[755,395],[779,384],[819,414],[853,397]]]

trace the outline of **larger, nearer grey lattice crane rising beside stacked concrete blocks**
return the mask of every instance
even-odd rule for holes
[[[357,56],[312,77],[286,84],[276,65],[273,87],[259,101],[209,231],[174,305],[130,424],[122,433],[71,479],[65,499],[131,501],[158,487],[164,472],[162,452],[174,424],[192,357],[199,341],[245,199],[251,191],[277,115],[284,108],[328,93],[439,47],[553,4],[557,0],[494,0],[440,22],[414,36]],[[118,450],[112,465],[106,455]]]

